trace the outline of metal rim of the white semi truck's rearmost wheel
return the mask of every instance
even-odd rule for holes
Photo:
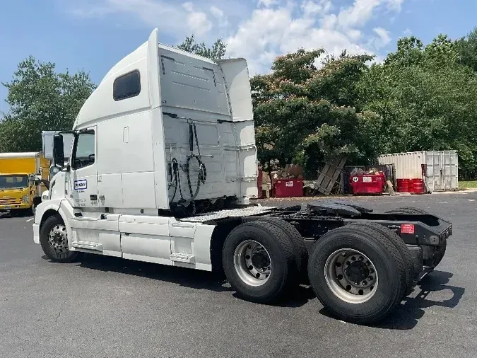
[[[351,248],[341,248],[329,255],[324,277],[333,294],[348,304],[363,304],[377,290],[375,265],[365,254]]]

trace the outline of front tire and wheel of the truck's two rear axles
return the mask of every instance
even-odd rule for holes
[[[297,277],[293,245],[287,233],[262,220],[241,224],[228,234],[222,263],[237,295],[261,304],[278,301]]]

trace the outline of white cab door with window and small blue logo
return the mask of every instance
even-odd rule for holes
[[[98,207],[97,127],[78,133],[71,153],[69,201],[72,207]]]

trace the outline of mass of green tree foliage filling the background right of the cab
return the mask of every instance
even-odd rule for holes
[[[477,174],[477,28],[459,40],[428,45],[398,40],[382,64],[372,57],[298,50],[278,57],[272,73],[251,80],[259,160],[301,163],[348,154],[371,163],[378,154],[459,151],[461,171]]]

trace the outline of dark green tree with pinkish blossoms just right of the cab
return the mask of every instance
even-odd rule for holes
[[[269,171],[271,163],[300,163],[316,175],[322,161],[341,154],[374,155],[361,133],[377,116],[353,107],[355,84],[372,57],[344,53],[318,69],[323,52],[300,49],[279,56],[271,74],[251,79],[259,161]]]

